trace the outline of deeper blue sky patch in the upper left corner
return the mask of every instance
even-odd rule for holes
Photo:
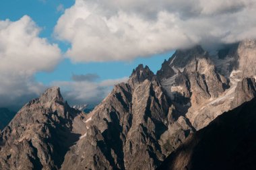
[[[73,0],[2,0],[0,5],[0,19],[16,21],[24,15],[29,15],[36,22],[42,32],[40,36],[52,39],[53,28],[62,12],[57,11],[59,5],[71,7]]]

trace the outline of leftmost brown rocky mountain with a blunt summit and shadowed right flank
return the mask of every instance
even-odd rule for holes
[[[78,114],[56,87],[27,103],[2,132],[0,169],[59,169],[79,138],[72,132]]]

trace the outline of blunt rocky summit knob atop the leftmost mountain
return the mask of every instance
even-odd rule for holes
[[[40,96],[39,100],[42,103],[61,102],[64,103],[64,99],[61,95],[59,87],[51,87]]]

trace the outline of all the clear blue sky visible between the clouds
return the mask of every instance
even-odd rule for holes
[[[10,19],[16,21],[24,15],[32,17],[34,22],[42,28],[40,37],[47,38],[49,42],[57,43],[64,53],[70,44],[61,42],[53,37],[53,30],[57,24],[57,20],[63,14],[58,11],[59,5],[69,8],[73,5],[73,0],[2,0],[0,5],[0,19]],[[11,10],[10,10],[11,9]],[[172,51],[164,54],[156,54],[148,58],[135,58],[131,61],[115,61],[115,62],[76,62],[73,63],[69,58],[63,58],[59,65],[51,72],[36,73],[36,81],[40,81],[46,85],[51,85],[53,81],[71,81],[71,76],[94,73],[99,75],[102,81],[104,79],[118,79],[129,77],[131,71],[140,63],[148,65],[154,73],[160,69],[164,59],[168,59]]]

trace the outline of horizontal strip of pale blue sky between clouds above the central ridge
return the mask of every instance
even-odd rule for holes
[[[71,81],[72,75],[97,74],[100,80],[118,79],[129,77],[133,69],[140,63],[148,65],[150,69],[156,73],[162,65],[164,59],[170,58],[172,52],[159,54],[150,58],[137,58],[131,62],[89,62],[89,63],[72,63],[71,60],[65,58],[50,73],[41,72],[36,74],[36,80],[46,85],[52,81]]]

